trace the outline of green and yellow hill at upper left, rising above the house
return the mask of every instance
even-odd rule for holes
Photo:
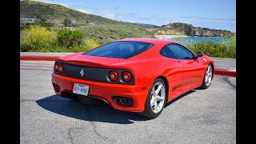
[[[20,18],[44,18],[56,24],[63,22],[64,18],[69,18],[78,24],[88,21],[95,24],[131,25],[129,22],[119,22],[94,14],[86,14],[65,6],[34,1],[20,1]]]

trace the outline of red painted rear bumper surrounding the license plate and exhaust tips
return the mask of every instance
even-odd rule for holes
[[[142,112],[145,107],[146,97],[150,85],[122,85],[103,82],[91,82],[76,78],[68,78],[58,74],[52,74],[52,82],[60,86],[59,92],[55,93],[62,96],[62,91],[72,92],[74,83],[80,83],[89,86],[88,97],[101,98],[117,110],[132,112]],[[121,96],[133,99],[133,106],[120,106],[114,102],[113,96]]]

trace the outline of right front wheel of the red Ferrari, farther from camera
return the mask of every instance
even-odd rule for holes
[[[206,68],[204,78],[202,80],[202,85],[199,88],[207,89],[210,86],[212,77],[213,77],[213,66],[211,66],[211,64],[209,63],[209,65]]]

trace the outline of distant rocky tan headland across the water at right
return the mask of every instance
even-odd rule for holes
[[[194,27],[187,23],[170,23],[163,25],[159,29],[153,31],[154,34],[170,34],[170,35],[188,35],[188,36],[206,36],[206,37],[230,37],[234,35],[228,30],[214,30],[202,27]]]

